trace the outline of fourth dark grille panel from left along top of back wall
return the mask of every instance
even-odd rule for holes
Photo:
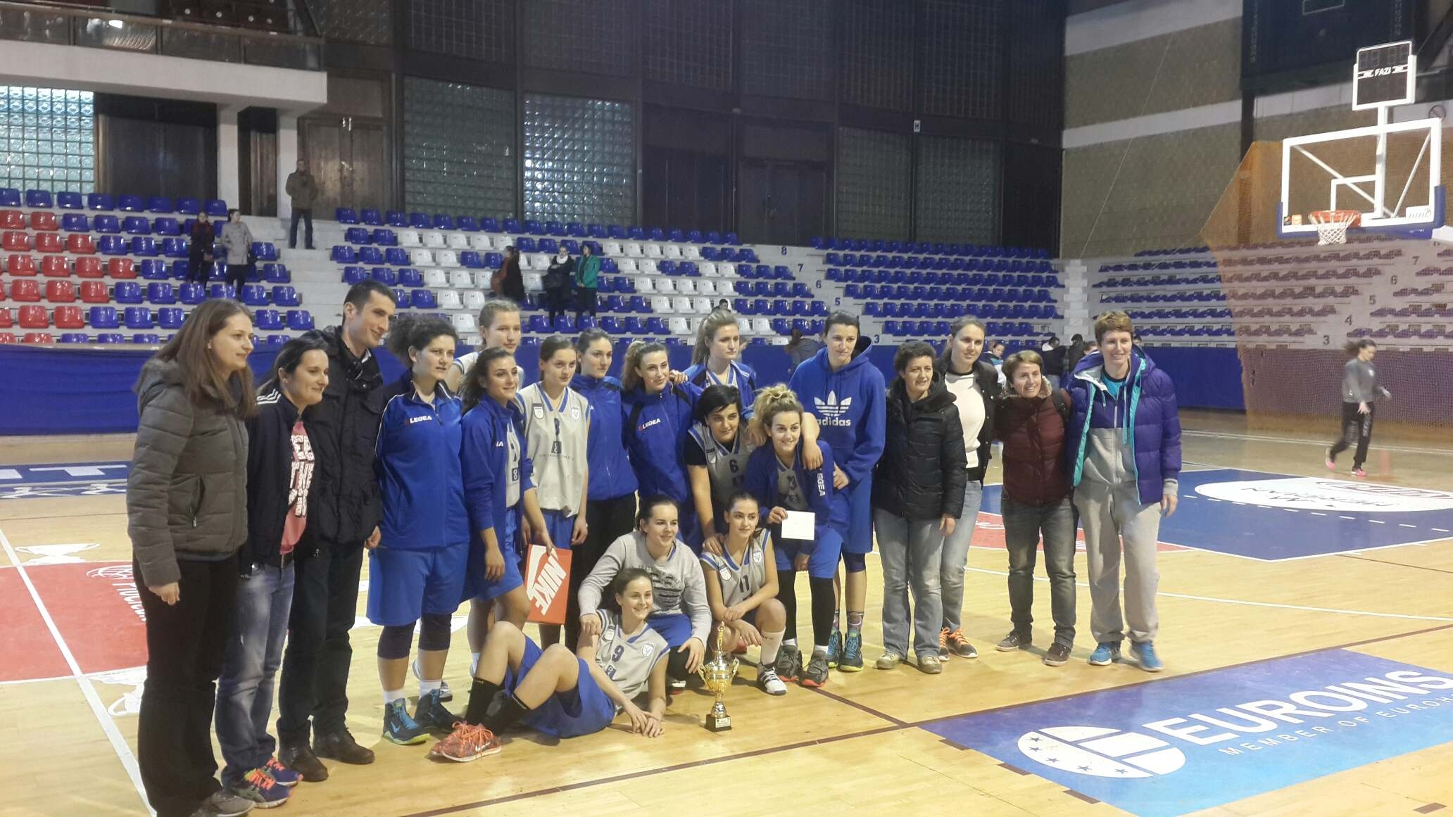
[[[742,1],[742,90],[828,99],[833,15],[828,0]]]

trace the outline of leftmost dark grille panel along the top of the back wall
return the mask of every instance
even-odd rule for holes
[[[407,6],[410,48],[514,61],[513,0],[411,0]]]

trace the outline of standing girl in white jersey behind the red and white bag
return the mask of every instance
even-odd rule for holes
[[[525,436],[535,464],[535,493],[555,547],[570,550],[586,541],[586,502],[590,467],[590,403],[570,381],[575,377],[575,346],[552,334],[541,343],[541,381],[519,391],[514,401],[525,416]],[[541,643],[559,643],[559,625],[542,624]]]

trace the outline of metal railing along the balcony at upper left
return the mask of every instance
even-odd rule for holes
[[[323,70],[323,39],[315,36],[52,3],[0,0],[0,39]]]

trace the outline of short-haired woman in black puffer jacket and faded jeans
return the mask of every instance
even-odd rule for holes
[[[883,558],[883,654],[876,666],[891,670],[907,661],[911,634],[918,669],[937,675],[943,539],[963,515],[968,480],[963,424],[943,372],[934,372],[933,346],[904,343],[894,371],[883,456],[873,470],[873,531]]]

